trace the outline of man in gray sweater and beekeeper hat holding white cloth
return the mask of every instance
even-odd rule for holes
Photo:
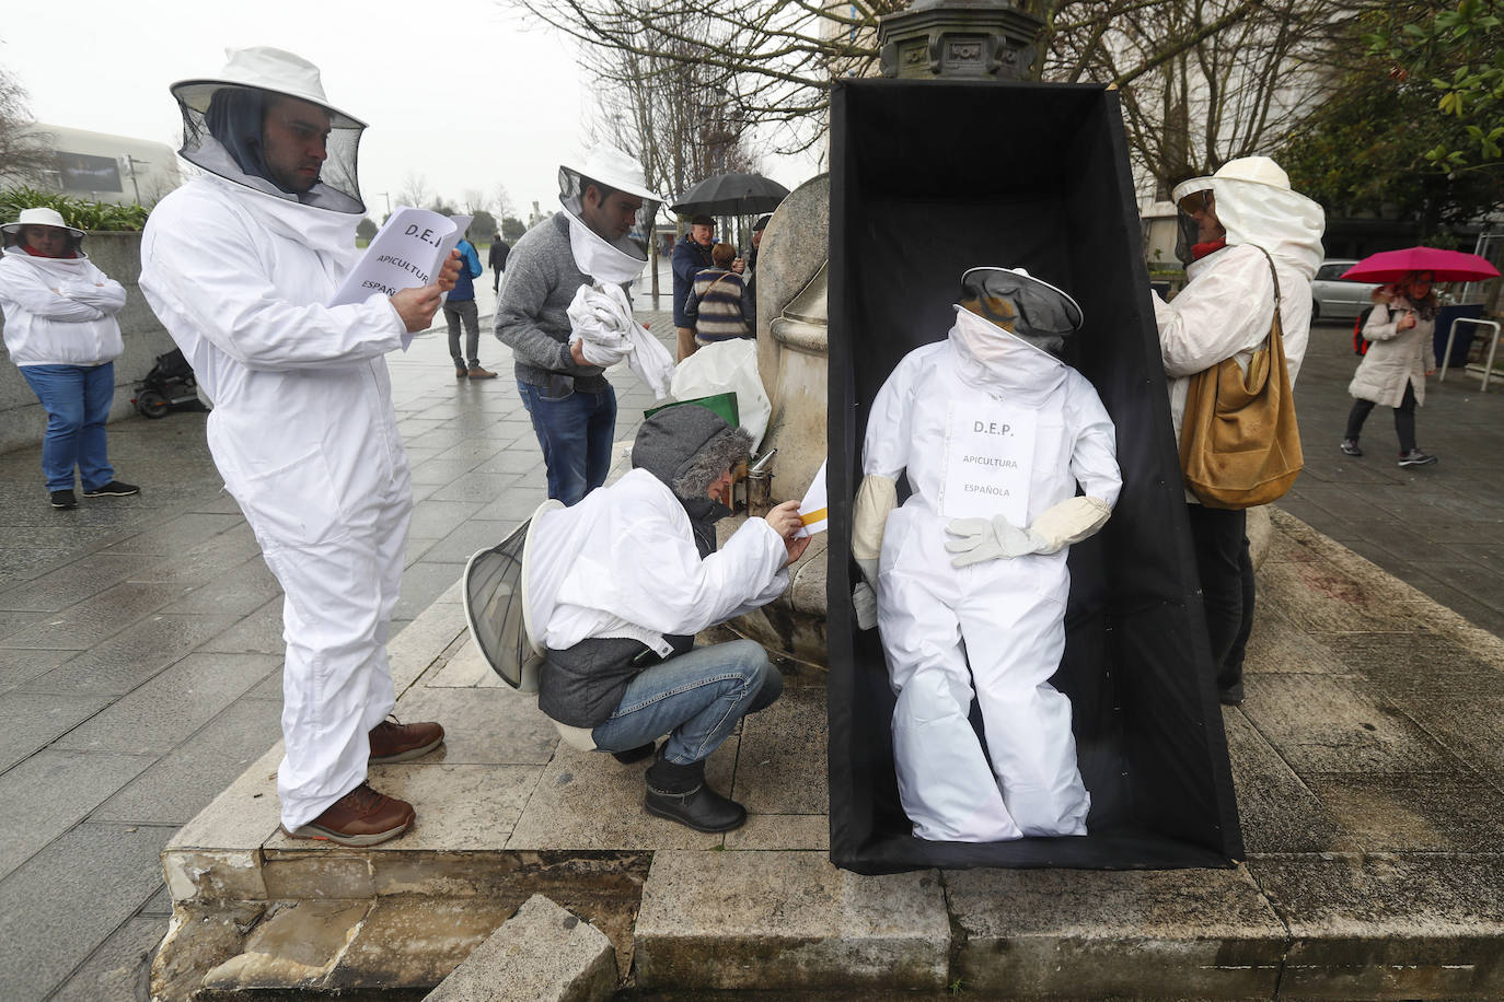
[[[549,497],[579,502],[606,482],[617,394],[572,340],[569,305],[581,285],[629,285],[647,249],[629,234],[662,198],[626,153],[597,147],[559,167],[561,212],[532,227],[507,258],[495,330],[516,361],[517,392],[547,467]]]

